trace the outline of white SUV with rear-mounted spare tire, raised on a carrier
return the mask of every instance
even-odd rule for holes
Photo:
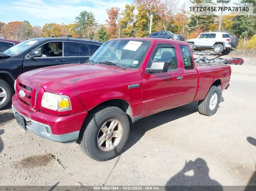
[[[228,55],[238,46],[238,38],[226,30],[205,31],[197,38],[188,39],[191,50],[213,50],[214,53]]]

